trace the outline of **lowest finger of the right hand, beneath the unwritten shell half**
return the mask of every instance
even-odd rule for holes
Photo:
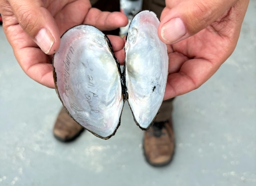
[[[197,89],[219,69],[221,64],[203,59],[186,61],[178,73],[168,75],[164,100]]]

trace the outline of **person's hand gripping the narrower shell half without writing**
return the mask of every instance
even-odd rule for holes
[[[233,53],[249,0],[166,0],[158,28],[167,44],[165,99],[207,81]]]

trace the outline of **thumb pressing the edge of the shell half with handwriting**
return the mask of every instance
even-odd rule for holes
[[[40,0],[9,0],[21,28],[45,54],[53,54],[60,45],[60,33],[51,13]]]

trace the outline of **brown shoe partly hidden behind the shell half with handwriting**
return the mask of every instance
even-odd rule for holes
[[[71,119],[66,109],[62,107],[53,128],[54,137],[62,142],[73,141],[83,131],[83,126]]]

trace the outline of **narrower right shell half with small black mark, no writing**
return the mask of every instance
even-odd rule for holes
[[[125,44],[125,80],[134,121],[148,129],[163,102],[168,75],[167,46],[157,35],[154,12],[134,16]]]

